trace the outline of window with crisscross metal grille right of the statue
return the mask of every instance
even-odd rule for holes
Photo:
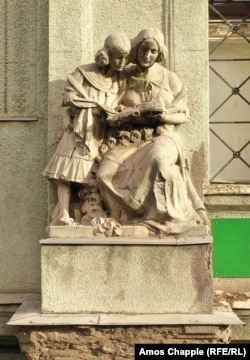
[[[209,2],[210,183],[250,183],[250,2]]]

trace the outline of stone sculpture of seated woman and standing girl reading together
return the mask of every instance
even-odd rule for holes
[[[167,56],[163,34],[155,28],[144,29],[131,43],[119,35],[119,68],[113,66],[117,36],[111,38],[113,47],[106,40],[106,50],[96,57],[104,67],[85,65],[68,77],[64,104],[69,105],[66,117],[71,127],[65,127],[67,145],[62,139],[58,148],[72,151],[73,134],[74,146],[83,155],[76,161],[67,160],[68,175],[57,150],[44,175],[58,179],[58,198],[67,180],[72,203],[68,181],[81,185],[72,216],[59,199],[52,224],[92,224],[95,233],[106,236],[119,236],[122,225],[139,224],[152,234],[179,235],[197,226],[203,226],[206,234],[209,219],[190,179],[177,134],[178,126],[189,120],[186,91],[177,74],[160,64]],[[97,88],[89,76],[93,71]],[[113,77],[106,77],[109,71]],[[89,82],[84,91],[83,79]],[[51,168],[58,172],[51,174]]]

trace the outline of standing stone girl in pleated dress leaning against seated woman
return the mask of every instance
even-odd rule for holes
[[[50,225],[79,223],[82,217],[86,224],[88,217],[92,220],[93,215],[103,215],[99,199],[95,205],[89,203],[89,211],[85,211],[85,206],[81,216],[81,201],[89,202],[90,193],[100,197],[95,171],[106,132],[105,117],[117,104],[119,73],[129,52],[126,35],[114,33],[106,38],[103,49],[97,51],[95,63],[82,65],[68,76],[63,98],[63,136],[43,171],[45,177],[55,179],[58,185],[58,204]]]

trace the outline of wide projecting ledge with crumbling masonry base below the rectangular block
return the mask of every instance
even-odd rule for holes
[[[9,320],[28,359],[134,359],[135,344],[227,344],[242,321],[225,305],[212,314],[42,314],[26,301]]]

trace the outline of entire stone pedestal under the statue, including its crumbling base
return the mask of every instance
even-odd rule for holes
[[[136,343],[229,343],[231,325],[242,325],[214,308],[210,236],[63,231],[40,241],[41,301],[24,302],[8,322],[29,359],[132,360]]]

